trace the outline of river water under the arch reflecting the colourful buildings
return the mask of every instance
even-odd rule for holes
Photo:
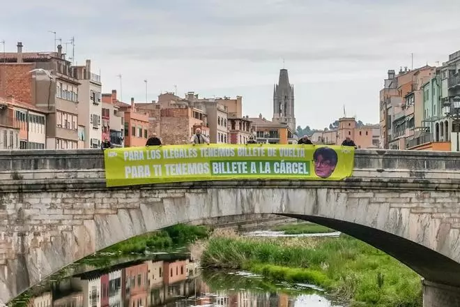
[[[169,255],[171,256],[171,255]],[[130,261],[44,283],[28,307],[332,306],[306,285],[273,284],[260,276],[201,272],[190,257]]]

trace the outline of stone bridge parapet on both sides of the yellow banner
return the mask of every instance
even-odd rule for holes
[[[104,156],[99,149],[0,151],[0,190],[61,190],[105,188]],[[279,180],[271,180],[279,186]],[[221,181],[234,186],[236,181]],[[232,183],[233,182],[233,183]],[[240,182],[240,181],[238,181]],[[270,187],[269,181],[247,184]],[[358,150],[353,176],[344,181],[284,181],[288,186],[344,188],[414,188],[458,190],[460,153],[445,151]],[[206,186],[206,182],[180,184]],[[283,185],[283,184],[282,184]],[[164,188],[178,184],[157,184]],[[215,184],[214,184],[215,186]]]

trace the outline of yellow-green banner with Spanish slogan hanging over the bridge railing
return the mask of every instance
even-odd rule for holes
[[[107,186],[232,179],[341,180],[353,147],[197,144],[105,149]]]

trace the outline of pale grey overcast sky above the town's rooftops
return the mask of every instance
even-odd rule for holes
[[[435,3],[436,2],[436,3]],[[123,100],[243,96],[243,112],[271,119],[273,84],[289,69],[297,124],[324,128],[343,116],[378,123],[388,69],[446,61],[460,50],[458,0],[22,0],[1,4],[0,40],[15,51],[52,51],[75,36],[103,91]],[[2,46],[0,45],[0,48]],[[66,47],[64,47],[65,49]],[[70,53],[70,45],[68,53]]]

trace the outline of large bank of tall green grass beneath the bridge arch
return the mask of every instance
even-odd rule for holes
[[[415,272],[357,239],[213,237],[204,267],[245,269],[273,281],[312,283],[351,306],[422,306]]]

